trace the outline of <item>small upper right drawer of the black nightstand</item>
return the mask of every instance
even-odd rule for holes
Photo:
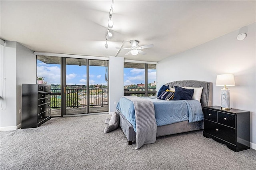
[[[224,112],[218,112],[218,123],[235,128],[236,115],[232,115]]]

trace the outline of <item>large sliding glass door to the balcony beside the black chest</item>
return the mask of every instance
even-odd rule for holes
[[[108,61],[37,56],[37,76],[51,84],[52,116],[108,111]]]

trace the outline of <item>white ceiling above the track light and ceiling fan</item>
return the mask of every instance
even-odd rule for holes
[[[138,40],[146,55],[118,56],[160,61],[256,22],[256,1],[115,0],[113,38],[106,49],[111,0],[1,0],[3,40],[33,51],[90,56],[115,56],[123,40]],[[124,47],[130,47],[126,42]]]

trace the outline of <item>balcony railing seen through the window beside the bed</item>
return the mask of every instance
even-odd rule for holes
[[[147,93],[146,93],[147,92]],[[148,91],[145,91],[145,89],[138,89],[138,88],[132,88],[132,89],[124,89],[124,96],[156,96],[156,88],[148,88]]]

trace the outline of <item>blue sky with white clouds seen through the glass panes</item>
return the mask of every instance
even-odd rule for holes
[[[67,65],[67,85],[86,85],[86,66]],[[47,84],[60,84],[60,64],[46,64],[37,60],[37,76],[44,77]],[[156,81],[156,70],[148,70],[148,83]],[[145,83],[144,69],[124,69],[124,85]],[[107,85],[105,67],[90,66],[89,84]]]

